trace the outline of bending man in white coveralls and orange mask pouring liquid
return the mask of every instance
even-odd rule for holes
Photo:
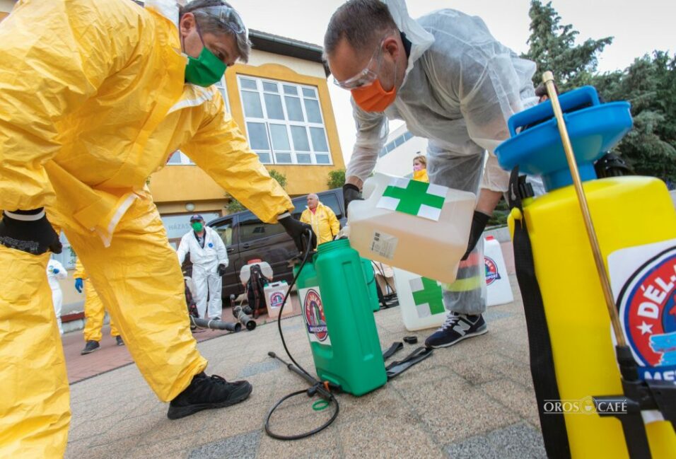
[[[537,103],[535,64],[496,40],[481,18],[443,9],[414,20],[403,0],[347,1],[330,20],[324,52],[354,105],[356,142],[343,187],[348,215],[387,139],[388,120],[404,120],[414,136],[429,139],[431,183],[477,194],[458,280],[443,289],[450,314],[425,344],[447,347],[485,333],[482,232],[509,182],[493,151],[509,137],[509,117]]]

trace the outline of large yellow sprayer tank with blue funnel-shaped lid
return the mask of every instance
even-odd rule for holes
[[[596,176],[593,161],[631,129],[628,103],[602,104],[590,87],[561,95],[559,100],[602,258],[610,273],[622,330],[638,364],[639,376],[641,380],[673,381],[676,211],[670,194],[665,183],[657,178]],[[621,422],[617,417],[601,417],[592,398],[622,395],[622,377],[610,316],[552,104],[542,103],[520,112],[511,117],[508,127],[511,139],[496,149],[499,163],[506,170],[518,167],[525,173],[541,175],[547,190],[538,197],[522,193],[526,199],[520,201],[520,208],[513,207],[508,219],[513,238],[515,224],[519,235],[523,235],[523,221],[528,231],[559,392],[558,408],[553,401],[544,406],[538,400],[545,445],[544,423],[549,421],[550,410],[559,409],[572,458],[629,458]],[[513,173],[510,199],[518,202],[515,189],[519,187],[513,187],[515,176],[518,173]],[[518,252],[523,251],[516,249],[515,241],[519,272]],[[521,284],[521,277],[519,281]],[[523,286],[522,294],[528,318],[530,306]],[[537,337],[530,335],[529,324],[535,380],[538,372],[534,366],[538,360],[537,349],[534,352],[532,347],[534,339]],[[535,387],[537,393],[537,383]],[[676,458],[674,428],[656,413],[659,412],[641,412],[651,455],[659,459]],[[550,443],[547,453],[556,456],[552,444],[556,443]]]

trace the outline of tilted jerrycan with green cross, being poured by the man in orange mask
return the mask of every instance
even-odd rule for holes
[[[474,193],[377,173],[349,204],[350,245],[368,260],[450,284],[467,250]]]

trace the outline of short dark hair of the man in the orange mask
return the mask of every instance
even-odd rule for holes
[[[324,35],[324,57],[332,54],[343,38],[354,50],[359,51],[375,46],[375,41],[388,30],[397,30],[397,25],[382,1],[346,1],[329,21]]]

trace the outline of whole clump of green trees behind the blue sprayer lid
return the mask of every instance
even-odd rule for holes
[[[578,31],[561,25],[551,1],[532,0],[529,15],[530,49],[523,57],[537,64],[533,83],[540,84],[542,72],[551,70],[561,92],[590,84],[605,102],[628,100],[634,129],[614,153],[637,174],[676,182],[676,55],[655,51],[622,71],[596,74],[598,54],[612,37],[577,45]]]

